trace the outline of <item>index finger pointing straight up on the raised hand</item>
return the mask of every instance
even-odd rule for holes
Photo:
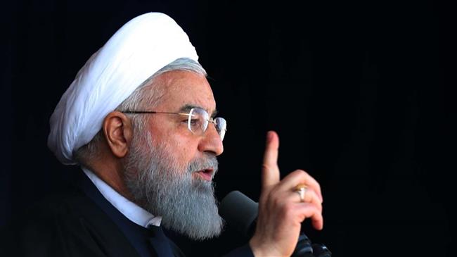
[[[267,132],[264,162],[262,164],[262,189],[272,187],[279,182],[278,148],[278,134],[274,131]]]

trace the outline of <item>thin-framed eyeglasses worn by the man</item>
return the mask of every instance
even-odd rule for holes
[[[189,111],[189,113],[168,113],[164,111],[123,111],[122,113],[162,113],[188,116],[188,130],[191,130],[191,132],[193,132],[194,134],[202,136],[203,134],[205,134],[208,128],[208,124],[213,123],[214,127],[216,127],[217,134],[219,134],[219,137],[221,137],[221,140],[224,140],[225,133],[227,131],[227,122],[224,118],[210,118],[210,115],[207,113],[207,111],[203,110],[202,108],[191,108],[191,111]]]

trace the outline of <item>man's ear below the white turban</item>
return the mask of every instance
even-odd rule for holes
[[[119,111],[108,113],[103,120],[102,129],[112,154],[117,158],[126,156],[133,137],[131,120],[127,115]]]

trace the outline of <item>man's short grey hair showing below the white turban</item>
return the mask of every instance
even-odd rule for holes
[[[142,109],[146,107],[154,108],[157,106],[157,104],[160,103],[160,99],[164,92],[162,92],[163,87],[154,87],[155,78],[172,70],[187,70],[207,77],[205,69],[197,61],[193,61],[191,58],[178,58],[148,77],[148,79],[141,83],[127,99],[117,106],[115,111],[145,111]],[[141,131],[146,127],[145,115],[133,113],[128,113],[127,115],[131,117],[134,132]],[[74,151],[73,158],[75,161],[80,165],[90,168],[90,163],[98,157],[100,143],[103,141],[104,136],[103,130],[99,130],[89,143]]]

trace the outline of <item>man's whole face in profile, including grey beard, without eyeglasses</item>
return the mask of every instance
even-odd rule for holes
[[[158,76],[153,87],[164,87],[157,111],[184,113],[198,107],[213,113],[214,97],[205,77],[187,71]],[[212,176],[216,156],[222,153],[219,134],[210,123],[205,134],[187,128],[187,116],[153,114],[145,127],[136,126],[124,162],[127,187],[137,203],[155,215],[162,225],[205,239],[221,232]]]

